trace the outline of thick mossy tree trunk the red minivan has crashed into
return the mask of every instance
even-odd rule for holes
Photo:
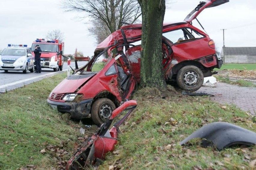
[[[165,0],[138,0],[142,10],[142,87],[166,88],[162,65],[162,30]]]

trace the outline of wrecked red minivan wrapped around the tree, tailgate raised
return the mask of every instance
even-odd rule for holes
[[[203,9],[229,0],[201,1],[183,22],[163,24],[162,54],[166,82],[176,82],[185,91],[197,91],[203,78],[212,76],[222,60],[216,55],[210,37],[192,25]],[[198,20],[197,20],[198,21]],[[89,114],[100,125],[111,116],[120,103],[128,100],[140,81],[140,51],[142,24],[130,24],[111,33],[94,51],[93,58],[57,85],[48,103],[74,118]],[[108,62],[98,72],[92,71],[99,57]]]

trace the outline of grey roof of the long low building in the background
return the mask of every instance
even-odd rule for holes
[[[222,47],[223,50],[223,47]],[[255,55],[256,47],[225,47],[225,55]]]

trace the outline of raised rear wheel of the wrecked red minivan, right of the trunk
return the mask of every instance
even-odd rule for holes
[[[186,91],[197,91],[203,85],[203,72],[194,65],[182,67],[177,74],[178,86]]]

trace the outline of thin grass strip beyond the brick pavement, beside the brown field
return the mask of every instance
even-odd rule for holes
[[[229,76],[214,75],[214,77],[219,82],[224,82],[224,83],[233,84],[233,85],[239,85],[241,87],[256,87],[256,84],[254,84],[251,81],[247,81],[247,80],[242,80],[242,79],[232,80],[229,78]]]

